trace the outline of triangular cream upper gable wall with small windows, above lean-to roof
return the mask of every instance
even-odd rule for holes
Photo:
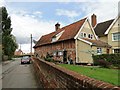
[[[87,20],[87,22],[85,22],[85,25],[82,28],[80,34],[81,33],[86,33],[87,34],[86,38],[88,38],[88,34],[92,34],[93,35],[93,40],[95,40],[95,35],[94,35],[93,31],[92,31],[92,28],[90,27],[90,24],[89,24],[88,20]],[[79,37],[81,37],[81,35],[79,35]]]

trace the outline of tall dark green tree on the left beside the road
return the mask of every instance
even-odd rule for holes
[[[14,55],[15,50],[18,48],[15,36],[11,34],[11,19],[8,16],[5,7],[2,7],[2,46],[3,55],[7,55],[9,59]]]

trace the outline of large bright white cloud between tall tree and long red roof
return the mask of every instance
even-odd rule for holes
[[[37,14],[40,14],[37,12]],[[42,19],[34,18],[35,15],[21,11],[21,13],[10,13],[12,23],[12,34],[16,37],[17,43],[21,44],[25,53],[28,53],[30,46],[30,34],[34,40],[47,33],[54,31],[55,21],[43,21]]]

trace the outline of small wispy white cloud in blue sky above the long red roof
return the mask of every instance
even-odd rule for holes
[[[79,13],[77,13],[74,10],[56,9],[56,15],[67,16],[69,18],[73,18],[73,17],[79,16]]]

